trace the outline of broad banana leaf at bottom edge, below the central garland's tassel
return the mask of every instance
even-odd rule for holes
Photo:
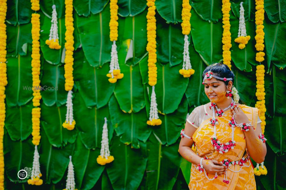
[[[151,134],[147,141],[146,189],[173,188],[181,163],[178,148],[178,143],[164,146],[155,135]]]

